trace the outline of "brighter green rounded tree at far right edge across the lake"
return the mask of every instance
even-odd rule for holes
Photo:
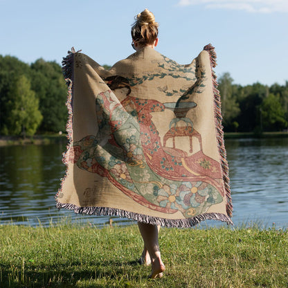
[[[268,131],[281,130],[287,127],[287,120],[285,120],[285,109],[283,109],[280,96],[269,94],[264,98],[260,108],[262,112],[263,127]]]

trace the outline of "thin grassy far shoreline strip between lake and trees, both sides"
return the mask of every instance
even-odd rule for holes
[[[288,138],[288,132],[226,132],[224,139],[234,138]],[[51,143],[68,143],[66,134],[39,134],[22,138],[21,136],[0,136],[0,147],[14,145],[48,145]]]

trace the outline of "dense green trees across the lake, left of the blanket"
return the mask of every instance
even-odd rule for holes
[[[56,62],[26,64],[0,55],[0,134],[64,131],[66,84]]]

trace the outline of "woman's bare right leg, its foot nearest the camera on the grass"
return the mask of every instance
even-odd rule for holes
[[[159,228],[156,225],[141,222],[138,222],[138,227],[144,241],[143,253],[145,252],[145,249],[147,249],[150,255],[152,265],[152,273],[150,278],[162,277],[162,272],[165,270],[165,266],[161,260],[161,253],[158,243]]]

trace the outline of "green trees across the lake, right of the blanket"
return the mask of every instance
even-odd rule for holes
[[[287,129],[288,81],[270,87],[259,82],[242,87],[229,73],[219,78],[226,132],[273,132]]]

